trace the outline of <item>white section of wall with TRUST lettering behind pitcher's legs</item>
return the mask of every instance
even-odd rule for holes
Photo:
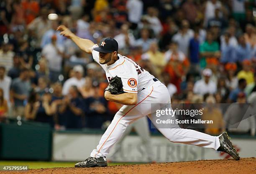
[[[53,133],[53,161],[82,161],[90,156],[100,141],[99,134]],[[255,138],[232,138],[234,146],[241,157],[256,156]],[[152,151],[157,162],[194,161],[201,159],[224,159],[227,154],[221,154],[213,149],[206,149],[181,143],[170,143],[163,136],[151,136]],[[120,153],[111,158],[116,162],[147,162],[145,148],[138,136],[127,136],[122,143]],[[110,151],[110,156],[115,151]],[[108,158],[107,158],[108,159]]]

